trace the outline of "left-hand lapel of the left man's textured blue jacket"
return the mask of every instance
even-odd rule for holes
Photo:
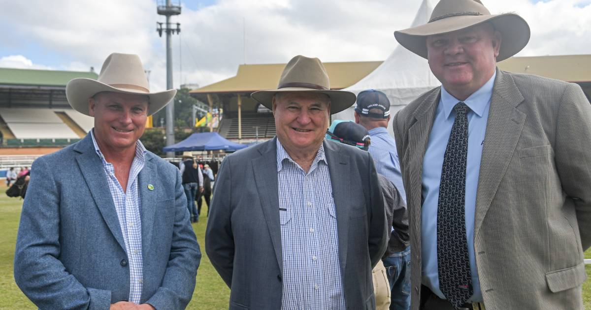
[[[102,214],[105,223],[115,236],[121,249],[125,251],[125,242],[121,233],[121,226],[119,226],[119,217],[115,210],[111,190],[109,190],[106,179],[105,167],[103,167],[99,156],[96,154],[90,134],[86,135],[86,138],[76,145],[74,151],[80,153],[76,156],[76,161],[100,214]]]

